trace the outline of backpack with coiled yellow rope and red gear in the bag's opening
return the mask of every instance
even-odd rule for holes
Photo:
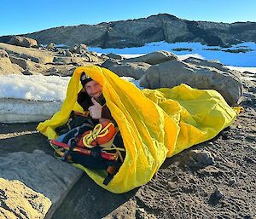
[[[55,129],[61,135],[49,143],[55,149],[55,158],[89,169],[107,170],[103,184],[108,185],[124,161],[124,143],[113,123],[95,124],[91,120],[73,112],[67,124]]]

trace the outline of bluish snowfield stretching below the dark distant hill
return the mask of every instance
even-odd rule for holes
[[[173,49],[191,49],[183,51],[175,51]],[[142,47],[132,47],[124,49],[102,49],[102,48],[88,48],[90,51],[96,51],[100,54],[114,53],[117,55],[128,55],[127,58],[137,57],[138,55],[145,55],[154,51],[166,50],[176,55],[196,55],[206,60],[218,60],[226,66],[244,66],[254,67],[256,66],[256,43],[247,42],[232,45],[230,48],[220,48],[218,46],[207,46],[201,43],[166,43],[164,41],[146,43]],[[218,50],[207,50],[207,49],[218,49]],[[246,53],[230,53],[224,50],[234,49],[253,49]],[[134,56],[133,56],[134,55]]]

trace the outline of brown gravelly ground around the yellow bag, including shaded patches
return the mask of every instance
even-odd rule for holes
[[[148,184],[113,194],[84,174],[52,218],[256,218],[253,86],[252,82],[245,90],[241,100],[244,112],[229,129],[167,158]],[[0,124],[1,157],[35,149],[52,155],[36,126]]]

